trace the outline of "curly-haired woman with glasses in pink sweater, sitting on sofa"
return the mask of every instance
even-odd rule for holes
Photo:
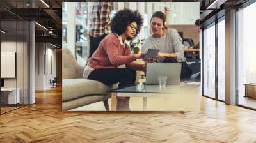
[[[88,59],[83,77],[106,85],[119,82],[118,88],[134,84],[136,70],[145,70],[146,66],[134,62],[142,59],[143,53],[131,55],[131,49],[125,40],[132,40],[140,32],[142,24],[143,18],[138,11],[117,11],[111,22],[112,33],[100,42],[98,49]],[[126,68],[118,68],[123,64]],[[120,109],[120,106],[124,109]],[[118,108],[129,110],[129,98],[118,99]]]

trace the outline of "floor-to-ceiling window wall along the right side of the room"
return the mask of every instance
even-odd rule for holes
[[[200,17],[203,47],[203,95],[222,102],[256,109],[256,3],[248,1],[234,10],[219,9],[212,17]]]

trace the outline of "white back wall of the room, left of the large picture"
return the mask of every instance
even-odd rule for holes
[[[50,79],[56,77],[56,49],[48,43],[36,43],[35,79],[36,90],[51,87]],[[52,65],[51,65],[52,64]],[[51,69],[52,68],[52,69]],[[51,72],[52,70],[52,72]]]

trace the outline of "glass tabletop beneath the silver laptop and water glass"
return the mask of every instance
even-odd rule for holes
[[[121,89],[113,89],[112,93],[179,93],[189,87],[195,87],[198,84],[188,84],[180,82],[180,84],[166,85],[165,87],[159,87],[159,85],[145,85],[134,84],[133,86],[124,87]],[[199,85],[200,86],[200,85]]]

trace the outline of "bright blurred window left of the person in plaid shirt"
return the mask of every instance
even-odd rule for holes
[[[90,3],[93,4],[93,3]],[[92,5],[90,5],[92,6]],[[88,3],[63,3],[63,41],[62,47],[68,48],[76,56],[77,62],[84,66],[88,59]],[[68,12],[67,12],[68,11]],[[69,27],[67,29],[67,27]],[[67,40],[68,39],[68,40]]]

